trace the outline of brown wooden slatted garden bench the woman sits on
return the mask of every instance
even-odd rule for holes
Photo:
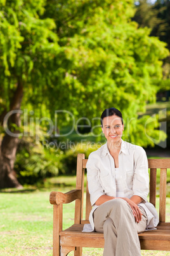
[[[51,192],[49,201],[53,204],[53,256],[65,256],[70,251],[74,255],[82,255],[82,247],[103,248],[104,238],[100,232],[82,232],[84,224],[89,223],[91,203],[89,199],[88,183],[86,186],[86,219],[83,220],[84,199],[84,169],[86,162],[84,154],[77,156],[76,189],[63,194]],[[166,177],[167,168],[170,168],[170,159],[149,159],[150,168],[150,203],[156,204],[157,168],[160,168],[159,190],[159,225],[157,230],[145,231],[139,234],[141,250],[170,251],[170,222],[166,222]],[[74,225],[62,230],[63,204],[75,200]]]

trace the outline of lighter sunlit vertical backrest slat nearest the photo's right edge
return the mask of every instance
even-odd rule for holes
[[[166,221],[166,179],[167,169],[160,169],[159,221]]]

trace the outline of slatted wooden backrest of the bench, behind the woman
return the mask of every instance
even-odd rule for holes
[[[86,163],[83,153],[77,155],[77,176],[76,188],[81,190],[81,199],[75,202],[75,224],[89,223],[89,213],[91,211],[90,196],[88,190],[88,181],[84,182],[84,170]],[[160,188],[159,188],[159,222],[166,222],[166,183],[167,183],[167,168],[170,168],[170,159],[148,159],[148,167],[150,168],[150,203],[156,205],[157,194],[157,172],[160,169]],[[85,186],[84,186],[85,184]],[[84,192],[86,191],[86,217],[83,219],[83,202]]]

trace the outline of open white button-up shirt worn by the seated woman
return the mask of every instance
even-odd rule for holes
[[[102,195],[116,197],[117,187],[120,188],[121,193],[123,190],[124,197],[131,198],[136,195],[143,198],[143,202],[139,205],[147,212],[147,229],[154,229],[157,226],[159,223],[157,211],[153,204],[147,201],[149,192],[148,160],[145,150],[141,146],[122,140],[119,152],[121,185],[116,186],[114,158],[110,155],[107,143],[89,155],[86,167],[90,201],[93,208],[89,215],[90,224],[85,224],[83,231],[94,231],[93,212],[98,207],[95,202]],[[120,177],[118,179],[120,180]]]

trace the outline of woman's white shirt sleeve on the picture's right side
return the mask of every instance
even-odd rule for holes
[[[149,192],[148,160],[145,150],[141,147],[134,152],[133,192],[134,195],[147,201]]]

